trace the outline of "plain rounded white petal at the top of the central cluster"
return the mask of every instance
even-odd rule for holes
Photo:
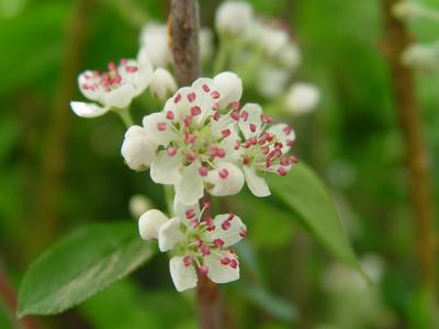
[[[213,78],[219,92],[219,109],[226,107],[232,102],[237,102],[243,95],[243,80],[234,72],[221,72]]]

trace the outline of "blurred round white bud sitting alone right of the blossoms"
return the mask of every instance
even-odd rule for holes
[[[288,111],[295,115],[309,113],[317,106],[319,101],[318,89],[309,83],[294,83],[285,99]]]

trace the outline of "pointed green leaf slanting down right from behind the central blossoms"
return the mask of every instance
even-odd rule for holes
[[[293,211],[299,223],[345,264],[360,271],[357,257],[331,198],[318,177],[303,162],[286,177],[268,178],[273,195]]]

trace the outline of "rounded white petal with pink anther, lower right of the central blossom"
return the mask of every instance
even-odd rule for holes
[[[238,193],[244,185],[244,174],[238,167],[230,162],[215,162],[216,169],[211,170],[205,181],[212,186],[209,192],[212,195],[225,196]],[[227,177],[221,177],[223,170],[227,172]]]

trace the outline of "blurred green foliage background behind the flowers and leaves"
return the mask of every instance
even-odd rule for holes
[[[244,193],[236,203],[251,214],[251,231],[239,252],[252,269],[223,288],[229,328],[423,328],[381,2],[250,2],[290,24],[303,54],[297,78],[320,89],[319,109],[295,123],[297,155],[327,182],[376,284],[367,287],[284,213]],[[437,0],[421,2],[439,8]],[[218,3],[200,1],[203,25],[212,26]],[[0,0],[0,270],[13,288],[30,262],[71,229],[99,220],[136,225],[132,195],[146,194],[165,208],[161,189],[123,163],[119,118],[83,120],[68,102],[83,99],[77,73],[134,57],[142,24],[165,22],[168,12],[159,0]],[[410,25],[427,43],[439,39],[438,27]],[[439,72],[417,75],[417,91],[438,203]],[[137,118],[143,106],[134,103]],[[165,257],[76,309],[37,320],[43,328],[196,327],[193,296],[175,292]],[[0,328],[14,326],[0,302]]]

